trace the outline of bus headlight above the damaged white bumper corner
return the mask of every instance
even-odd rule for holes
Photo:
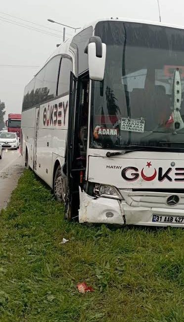
[[[119,191],[113,187],[106,184],[95,183],[94,185],[94,195],[96,197],[106,197],[113,199],[122,199]]]

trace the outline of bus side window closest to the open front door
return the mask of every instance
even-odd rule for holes
[[[70,73],[72,71],[72,61],[62,58],[59,72],[57,95],[67,95],[70,90]]]

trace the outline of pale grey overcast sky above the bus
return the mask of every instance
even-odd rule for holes
[[[162,21],[184,24],[184,0],[159,0],[159,2]],[[5,103],[6,117],[10,112],[21,112],[24,87],[38,68],[2,65],[40,66],[46,61],[56,44],[62,42],[62,26],[47,22],[47,18],[81,27],[98,17],[112,16],[158,20],[158,2],[157,0],[1,0],[0,100]],[[43,31],[52,35],[44,34]],[[66,28],[66,34],[72,35],[72,29]]]

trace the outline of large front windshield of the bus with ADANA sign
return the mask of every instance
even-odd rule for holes
[[[102,21],[103,81],[92,81],[91,148],[184,148],[184,30]],[[175,135],[174,135],[175,134]]]

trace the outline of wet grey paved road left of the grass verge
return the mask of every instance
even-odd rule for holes
[[[24,162],[19,150],[3,150],[0,160],[0,210],[7,205],[23,170]]]

